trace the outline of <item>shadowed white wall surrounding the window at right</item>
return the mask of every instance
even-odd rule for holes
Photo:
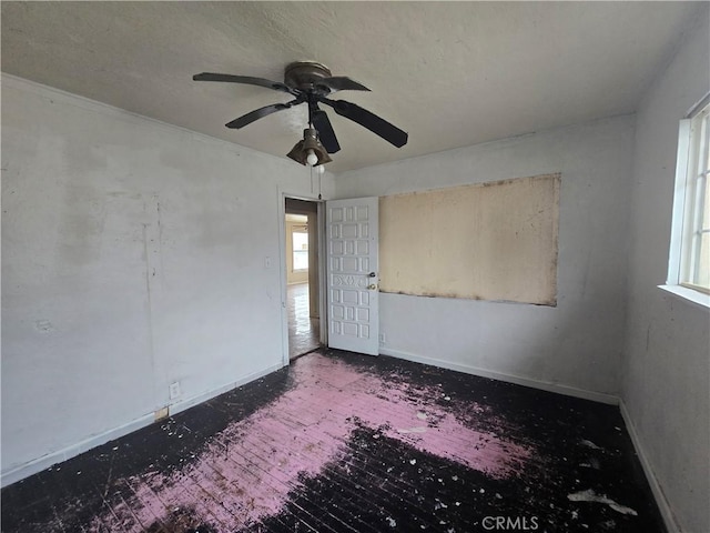
[[[637,115],[622,380],[642,456],[688,533],[710,531],[710,314],[656,285],[668,269],[678,122],[710,90],[708,18],[706,6]]]

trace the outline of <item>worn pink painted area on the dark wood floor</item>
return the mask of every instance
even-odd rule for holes
[[[152,472],[126,480],[134,494],[131,515],[97,516],[92,531],[144,531],[180,509],[190,509],[216,531],[253,524],[277,514],[303,476],[316,476],[342,459],[358,424],[497,479],[521,469],[531,454],[463,424],[439,405],[437,400],[448,396],[436,386],[386,382],[318,354],[290,371],[296,383],[292,390],[230,424],[195,462],[171,475]],[[222,504],[215,506],[215,500]]]

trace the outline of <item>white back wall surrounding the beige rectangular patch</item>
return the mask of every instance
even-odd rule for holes
[[[338,174],[355,198],[561,172],[558,306],[381,294],[382,352],[616,394],[632,151],[619,117]]]

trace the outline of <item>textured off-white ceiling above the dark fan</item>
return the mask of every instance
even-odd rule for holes
[[[693,2],[3,1],[2,71],[284,157],[300,105],[203,71],[283,79],[316,60],[372,92],[343,91],[409,133],[394,148],[329,112],[341,172],[633,112],[699,13]],[[327,108],[326,108],[327,109]],[[297,164],[297,163],[294,163]]]

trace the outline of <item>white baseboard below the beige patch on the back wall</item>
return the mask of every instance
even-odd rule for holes
[[[581,398],[584,400],[591,400],[594,402],[607,403],[609,405],[618,405],[619,398],[613,394],[605,394],[602,392],[587,391],[584,389],[577,389],[568,385],[560,385],[559,383],[549,383],[546,381],[532,380],[530,378],[523,378],[519,375],[505,374],[501,372],[495,372],[491,370],[479,369],[478,366],[471,366],[468,364],[452,363],[443,361],[440,359],[425,358],[402,350],[390,350],[388,348],[379,348],[382,355],[389,355],[392,358],[405,359],[407,361],[414,361],[415,363],[432,364],[442,369],[455,370],[457,372],[465,372],[467,374],[474,374],[481,378],[490,378],[493,380],[505,381],[506,383],[515,383],[517,385],[530,386],[532,389],[539,389],[541,391],[555,392],[558,394],[565,394],[566,396]]]

